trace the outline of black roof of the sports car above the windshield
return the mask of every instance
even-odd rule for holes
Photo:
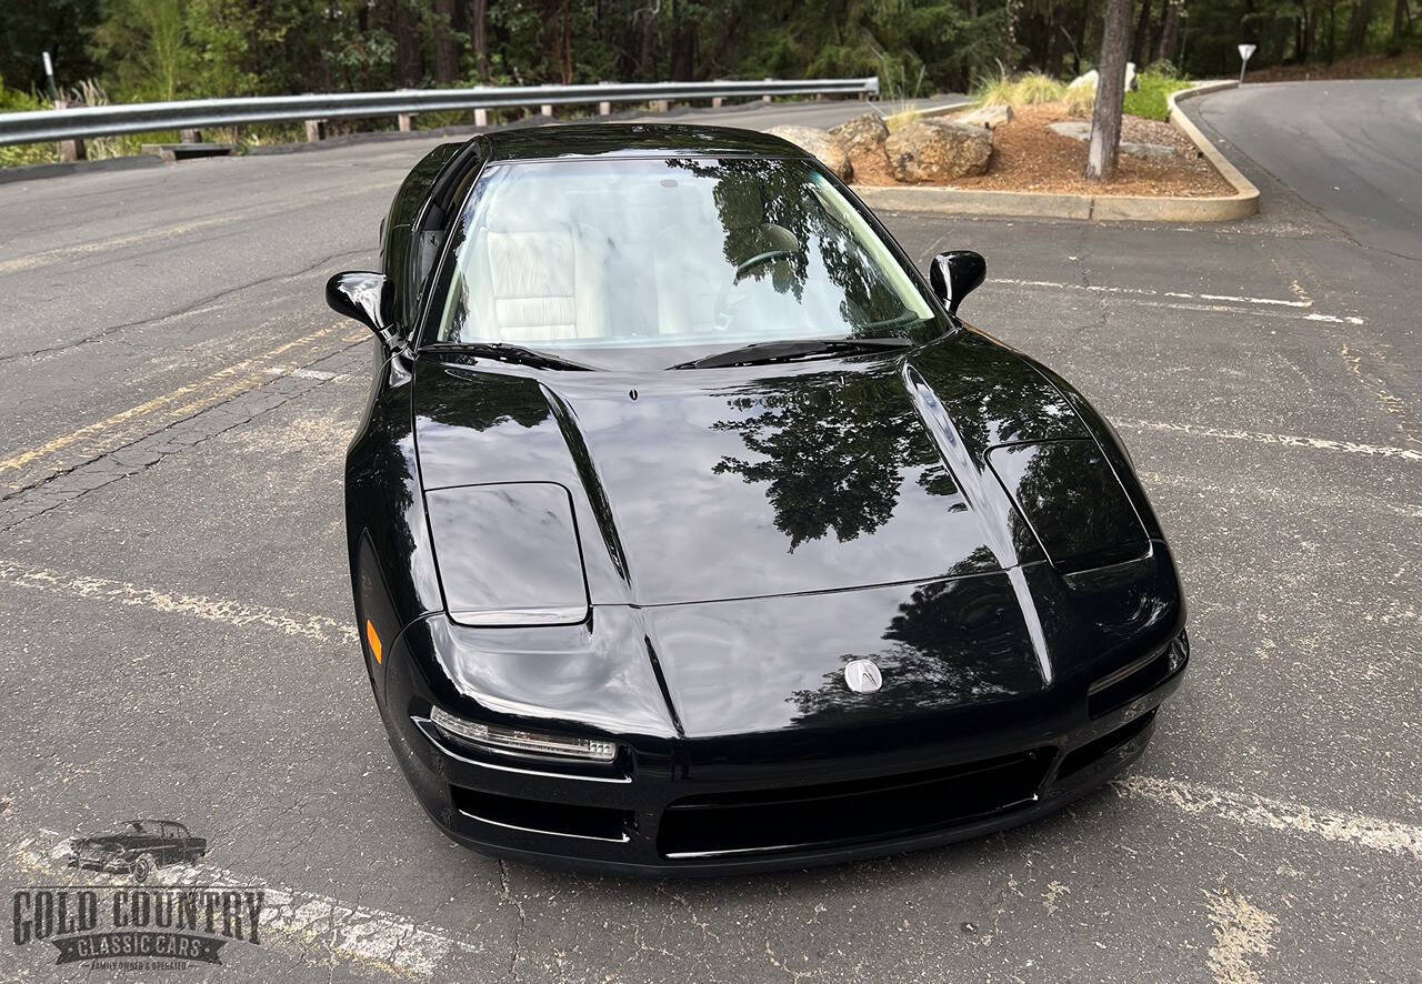
[[[483,134],[491,161],[593,156],[808,158],[789,141],[754,129],[675,124],[567,124]]]

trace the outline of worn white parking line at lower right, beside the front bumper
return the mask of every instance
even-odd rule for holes
[[[1111,785],[1122,798],[1170,806],[1192,816],[1217,816],[1244,826],[1305,833],[1322,840],[1422,860],[1422,826],[1411,823],[1396,823],[1362,813],[1313,809],[1281,799],[1149,775],[1113,779]]]

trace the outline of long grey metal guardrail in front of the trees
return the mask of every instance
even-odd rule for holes
[[[259,122],[392,117],[437,109],[496,109],[590,102],[657,102],[775,95],[877,95],[879,78],[805,78],[717,82],[633,82],[337,92],[240,100],[183,100],[0,114],[0,146],[46,141],[196,129]]]

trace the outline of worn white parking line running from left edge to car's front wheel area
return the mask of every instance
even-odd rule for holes
[[[208,594],[176,594],[156,592],[128,582],[105,577],[85,577],[58,570],[46,570],[13,560],[0,560],[0,584],[28,587],[57,594],[70,594],[104,601],[117,601],[152,611],[183,614],[205,621],[220,621],[226,626],[260,626],[286,636],[299,636],[317,643],[354,643],[356,630],[343,621],[326,616],[286,609],[272,609],[260,604],[243,604],[230,599]]]

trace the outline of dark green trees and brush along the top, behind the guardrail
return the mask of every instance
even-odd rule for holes
[[[1163,115],[1177,74],[1233,77],[1240,41],[1260,46],[1250,70],[1261,77],[1318,77],[1321,63],[1335,61],[1330,74],[1415,75],[1422,27],[1419,0],[1408,1],[1412,17],[1395,30],[1394,14],[1404,10],[1396,0],[1149,0],[1140,61],[1166,60],[1142,75],[1126,111]],[[1133,26],[1145,3],[1135,0]],[[17,0],[0,17],[0,75],[10,80],[3,98],[11,108],[44,91],[44,50],[54,55],[60,88],[97,78],[121,102],[485,82],[877,75],[890,104],[971,88],[987,101],[1031,105],[1061,98],[1058,80],[1096,60],[1105,7],[1106,0]],[[481,9],[482,58],[475,51]],[[1185,10],[1170,43],[1167,10]],[[1384,53],[1404,54],[1385,60]],[[1089,114],[1089,91],[1069,98],[1086,102]],[[418,125],[465,119],[431,115]],[[353,121],[337,129],[391,125]],[[246,144],[283,132],[296,131],[232,137]],[[138,139],[95,142],[95,152],[121,152]],[[13,161],[53,151],[0,155]]]

